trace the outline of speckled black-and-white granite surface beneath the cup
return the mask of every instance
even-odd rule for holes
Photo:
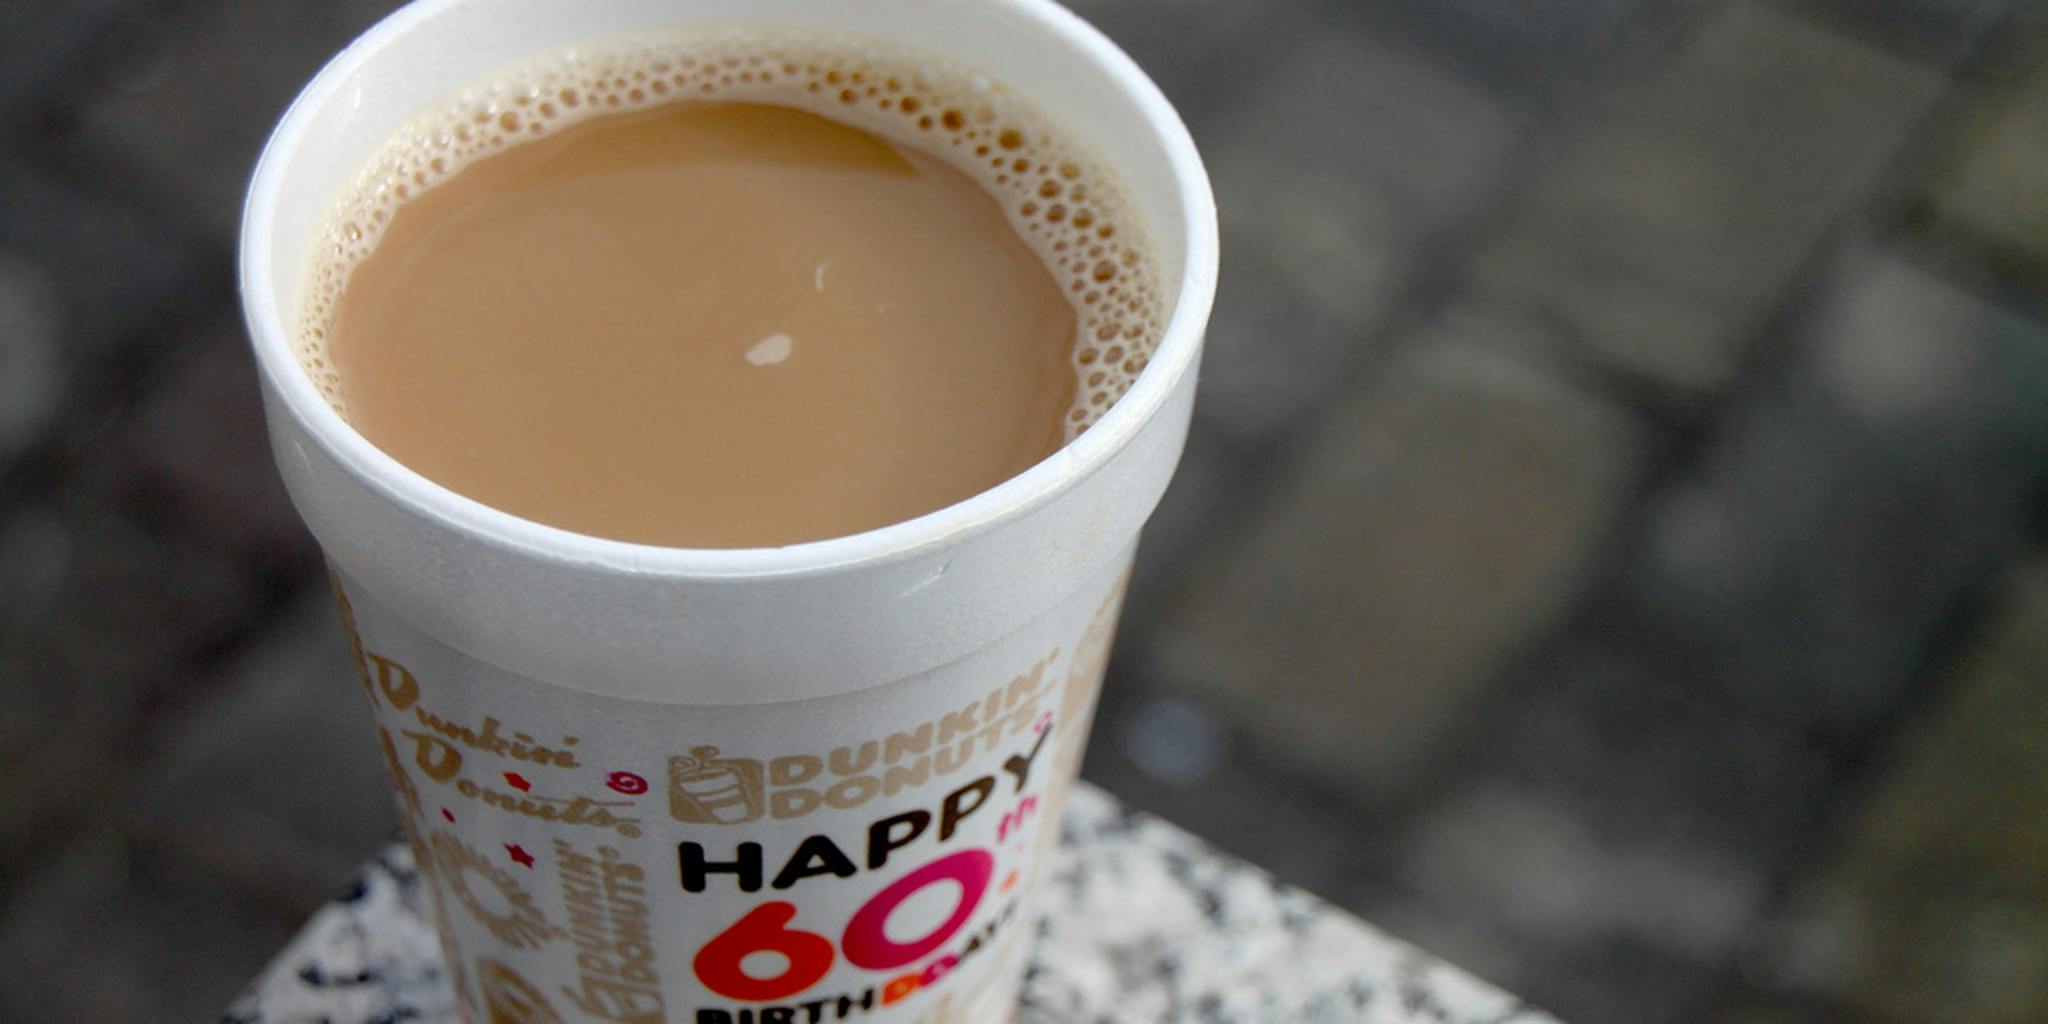
[[[1044,899],[1016,1024],[1556,1024],[1085,784]],[[412,852],[365,866],[225,1020],[453,1024]]]

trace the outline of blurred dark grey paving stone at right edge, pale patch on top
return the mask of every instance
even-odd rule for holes
[[[1798,358],[1649,508],[1630,600],[1716,690],[1855,735],[2048,483],[2048,326],[1845,248]]]

